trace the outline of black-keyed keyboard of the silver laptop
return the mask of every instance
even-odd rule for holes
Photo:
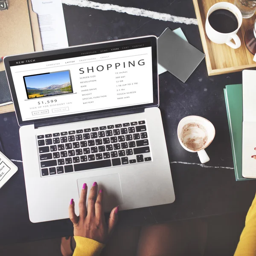
[[[37,136],[41,176],[151,161],[145,121]]]

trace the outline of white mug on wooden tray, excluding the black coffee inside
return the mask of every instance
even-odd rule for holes
[[[212,28],[212,26],[209,23],[209,16],[212,14],[212,12],[218,9],[226,9],[232,12],[236,16],[238,21],[238,28],[235,31],[230,33],[221,33]],[[243,17],[240,10],[232,3],[227,3],[227,2],[215,3],[207,12],[206,23],[205,23],[206,34],[208,38],[215,44],[227,44],[229,47],[233,49],[237,49],[241,46],[241,40],[238,37],[238,35],[236,35],[236,33],[238,32],[238,30],[242,25],[242,20],[243,20]],[[232,39],[235,41],[235,44],[231,42]]]

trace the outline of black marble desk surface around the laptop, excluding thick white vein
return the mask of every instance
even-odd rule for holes
[[[100,2],[195,18],[192,0]],[[63,8],[70,46],[141,35],[159,36],[166,27],[172,30],[181,27],[189,43],[203,51],[197,25],[65,4]],[[256,182],[235,180],[223,93],[226,84],[241,81],[241,72],[209,77],[205,61],[184,84],[169,72],[160,75],[160,109],[176,201],[120,212],[120,225],[145,225],[248,210]],[[188,115],[203,116],[215,126],[215,139],[207,148],[210,161],[205,166],[199,164],[196,153],[185,151],[178,142],[178,122]],[[0,137],[6,156],[22,160],[14,112],[0,115]],[[38,224],[29,221],[23,166],[21,162],[15,164],[18,172],[0,189],[0,243],[71,235],[73,229],[69,220]]]

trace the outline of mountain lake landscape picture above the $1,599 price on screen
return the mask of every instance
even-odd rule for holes
[[[28,99],[73,93],[69,70],[24,76],[23,79]]]

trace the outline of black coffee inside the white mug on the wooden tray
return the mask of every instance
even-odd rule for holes
[[[212,12],[208,19],[212,28],[220,33],[230,33],[238,28],[236,16],[225,9]]]

